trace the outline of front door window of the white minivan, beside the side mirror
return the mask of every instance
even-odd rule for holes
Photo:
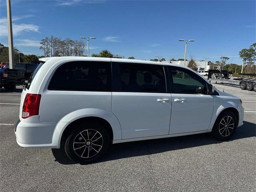
[[[170,66],[168,66],[168,71],[172,82],[172,92],[196,94],[200,93],[198,88],[201,87],[204,90],[203,93],[206,94],[206,82],[198,75],[194,74],[194,72]]]

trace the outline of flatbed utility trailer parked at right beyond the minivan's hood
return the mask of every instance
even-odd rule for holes
[[[227,70],[209,70],[208,80],[212,83],[226,83],[240,86],[242,90],[254,90],[256,92],[256,74],[249,73],[239,73],[239,75],[252,76],[254,78],[233,78],[230,79],[229,75],[232,77],[232,72]]]

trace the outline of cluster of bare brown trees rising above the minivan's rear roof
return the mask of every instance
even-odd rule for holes
[[[40,50],[45,57],[84,56],[85,43],[82,40],[70,38],[62,40],[59,37],[46,37],[40,42]]]

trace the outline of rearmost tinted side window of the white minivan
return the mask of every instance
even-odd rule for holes
[[[49,90],[111,90],[110,62],[69,62],[54,73]]]

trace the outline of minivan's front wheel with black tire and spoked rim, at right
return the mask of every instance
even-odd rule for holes
[[[226,124],[224,122],[226,122]],[[234,125],[232,125],[233,123]],[[222,112],[215,121],[215,124],[212,128],[212,134],[217,140],[229,140],[236,131],[237,124],[237,118],[233,112]]]

